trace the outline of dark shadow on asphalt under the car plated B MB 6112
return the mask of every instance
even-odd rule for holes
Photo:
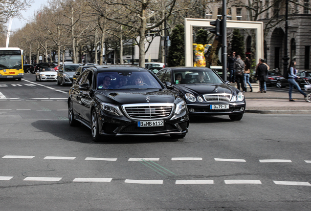
[[[165,136],[122,136],[122,137],[104,137],[102,142],[93,142],[91,130],[82,125],[71,127],[68,121],[39,120],[31,124],[33,127],[50,133],[67,141],[74,141],[87,144],[140,144],[153,142],[177,142],[178,139],[172,139],[169,135]]]

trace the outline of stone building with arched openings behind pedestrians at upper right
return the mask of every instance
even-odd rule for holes
[[[311,69],[311,0],[293,0],[289,2],[288,21],[288,56],[295,59],[296,68]],[[284,43],[285,43],[285,0],[228,0],[228,20],[263,21],[265,25],[264,55],[270,70],[279,68],[283,71]],[[251,5],[249,4],[251,3]],[[257,9],[251,13],[243,5]],[[303,7],[304,5],[305,7]],[[256,11],[256,10],[255,10]],[[222,0],[214,0],[207,5],[207,19],[216,19],[222,14]],[[230,30],[228,30],[228,34]],[[252,38],[248,31],[241,30],[245,39],[245,54],[253,51]],[[228,46],[230,48],[230,46]],[[289,61],[290,61],[289,60]]]

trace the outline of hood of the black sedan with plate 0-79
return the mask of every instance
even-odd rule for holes
[[[178,84],[175,85],[178,90],[185,93],[197,95],[213,94],[213,93],[228,93],[236,94],[238,91],[227,84]]]

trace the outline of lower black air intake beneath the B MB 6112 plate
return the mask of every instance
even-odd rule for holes
[[[130,125],[121,130],[120,133],[153,133],[172,130],[176,130],[176,127],[171,124],[164,124],[162,127],[137,127],[136,125]]]

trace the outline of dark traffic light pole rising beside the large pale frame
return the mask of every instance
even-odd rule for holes
[[[227,81],[227,0],[222,0],[222,80]]]

